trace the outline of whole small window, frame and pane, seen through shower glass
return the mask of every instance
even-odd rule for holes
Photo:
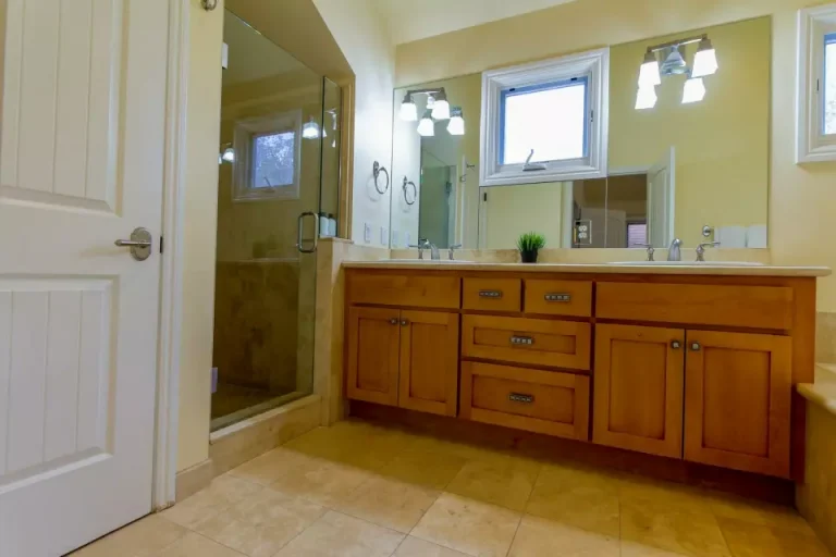
[[[298,199],[302,112],[235,124],[235,201]]]

